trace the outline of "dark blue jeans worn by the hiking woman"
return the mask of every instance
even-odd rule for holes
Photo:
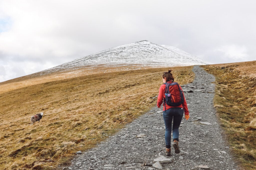
[[[182,120],[184,109],[170,108],[163,112],[165,124],[165,145],[171,145],[172,121],[173,140],[179,141],[179,125]]]

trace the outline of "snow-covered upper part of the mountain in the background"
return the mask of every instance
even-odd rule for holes
[[[209,63],[181,49],[167,45],[157,45],[145,40],[112,47],[99,53],[44,70],[44,72],[69,70],[101,64],[106,66],[140,64],[144,67],[172,67],[204,65]]]

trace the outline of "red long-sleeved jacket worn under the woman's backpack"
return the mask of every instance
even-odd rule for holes
[[[168,83],[171,83],[171,82],[168,82]],[[180,86],[179,86],[180,87]],[[180,89],[182,89],[180,87]],[[161,104],[163,103],[163,100],[165,99],[165,84],[162,84],[159,88],[159,94],[158,94],[158,97],[157,97],[157,107],[160,107]],[[184,93],[183,93],[183,96],[184,96]],[[173,108],[173,106],[169,106],[167,104],[165,104],[165,107],[166,107],[166,110],[167,109],[170,109],[170,108]],[[165,110],[165,107],[163,110]],[[184,96],[184,103],[183,104],[180,104],[179,106],[176,106],[176,107],[180,107],[180,108],[183,108],[184,111],[185,111],[185,114],[189,115],[189,111],[188,111],[188,106],[187,106],[187,101],[185,99],[185,96]]]

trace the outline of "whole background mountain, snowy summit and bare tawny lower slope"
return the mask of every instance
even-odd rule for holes
[[[54,68],[1,82],[0,94],[25,86],[82,75],[204,64],[209,63],[178,48],[140,41],[112,47]]]

